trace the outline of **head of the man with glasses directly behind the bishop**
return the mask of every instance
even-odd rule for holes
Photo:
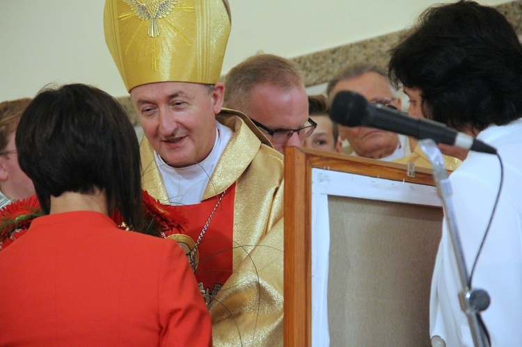
[[[274,148],[302,146],[317,124],[308,117],[308,96],[299,67],[272,54],[239,63],[225,81],[225,106],[242,111]]]

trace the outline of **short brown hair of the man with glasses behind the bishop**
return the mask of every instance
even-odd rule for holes
[[[292,60],[274,54],[258,54],[232,67],[226,75],[225,106],[244,109],[248,94],[261,83],[281,89],[304,88],[299,66]]]

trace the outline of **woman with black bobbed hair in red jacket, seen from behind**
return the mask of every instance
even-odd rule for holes
[[[195,277],[170,239],[138,229],[139,145],[102,90],[40,92],[16,133],[45,216],[0,252],[0,346],[209,346]]]

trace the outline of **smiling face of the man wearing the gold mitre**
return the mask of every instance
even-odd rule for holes
[[[198,83],[161,82],[131,90],[143,133],[152,148],[175,168],[203,161],[216,140],[215,115],[225,87],[212,90]]]

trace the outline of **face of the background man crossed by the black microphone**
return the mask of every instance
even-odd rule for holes
[[[366,72],[352,79],[339,81],[331,92],[331,99],[341,90],[349,90],[363,95],[369,102],[388,100],[390,105],[401,109],[400,99],[393,97],[386,79],[377,72]],[[339,127],[341,138],[347,139],[359,156],[381,159],[392,154],[399,137],[397,134],[368,127]]]

